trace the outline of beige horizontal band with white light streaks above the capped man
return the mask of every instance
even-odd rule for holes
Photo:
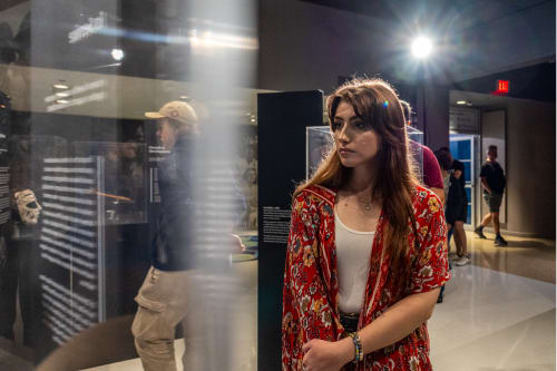
[[[203,100],[197,99],[203,89],[194,82],[16,65],[0,65],[0,71],[10,76],[0,80],[0,91],[11,98],[11,106],[18,111],[145,119],[145,111],[157,110],[169,100],[179,100],[184,96]],[[70,88],[62,90],[69,92],[63,98],[67,104],[57,105],[57,99],[61,98],[55,95],[60,91],[53,88],[55,84]],[[251,119],[257,116],[258,92],[271,90],[235,88],[228,96],[215,95],[212,108],[235,123],[254,124]],[[234,97],[232,100],[231,96]]]

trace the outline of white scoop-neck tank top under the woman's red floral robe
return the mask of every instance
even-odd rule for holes
[[[339,267],[339,310],[359,313],[370,269],[375,232],[359,232],[345,226],[334,214],[334,242]]]

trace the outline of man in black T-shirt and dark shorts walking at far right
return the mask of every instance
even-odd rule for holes
[[[483,199],[489,206],[489,213],[483,216],[481,224],[473,231],[480,238],[486,238],[483,228],[494,222],[495,245],[507,246],[507,241],[499,231],[499,208],[501,207],[502,194],[507,179],[502,167],[497,163],[497,146],[489,146],[487,160],[481,165],[480,178],[483,188]]]

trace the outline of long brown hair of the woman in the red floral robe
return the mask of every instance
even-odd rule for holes
[[[381,79],[353,79],[339,87],[326,99],[329,125],[332,129],[341,101],[350,104],[358,117],[381,137],[378,153],[379,168],[371,197],[382,203],[387,224],[387,252],[392,257],[393,271],[408,267],[408,222],[413,230],[412,188],[418,184],[412,158],[408,150],[407,125],[402,106],[394,89]],[[301,184],[294,197],[311,185],[341,188],[350,177],[351,168],[341,164],[336,148],[331,149],[315,174]]]

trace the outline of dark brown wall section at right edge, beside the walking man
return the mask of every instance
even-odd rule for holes
[[[507,230],[555,238],[555,104],[509,99]]]

